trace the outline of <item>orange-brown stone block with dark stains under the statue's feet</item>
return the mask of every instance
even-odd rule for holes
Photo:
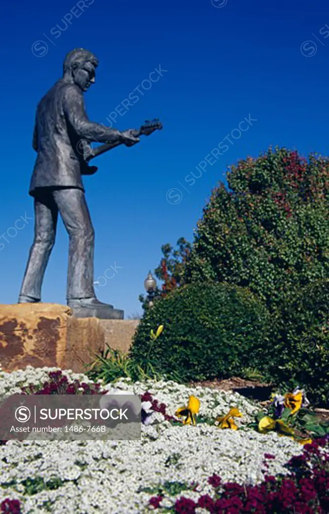
[[[0,305],[0,364],[4,371],[31,365],[80,372],[104,344],[100,320],[74,318],[65,305]]]

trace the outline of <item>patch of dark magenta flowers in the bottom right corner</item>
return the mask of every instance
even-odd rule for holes
[[[182,496],[175,502],[166,504],[166,486],[150,498],[149,504],[158,511],[211,512],[212,514],[240,514],[256,512],[257,514],[326,514],[329,512],[329,453],[328,438],[317,443],[306,444],[303,455],[292,457],[287,463],[290,473],[287,476],[266,475],[265,480],[257,485],[222,483],[221,478],[213,474],[208,483],[213,487],[212,494],[196,494],[194,499]],[[265,454],[266,460],[274,455]],[[197,497],[198,495],[198,497]]]

